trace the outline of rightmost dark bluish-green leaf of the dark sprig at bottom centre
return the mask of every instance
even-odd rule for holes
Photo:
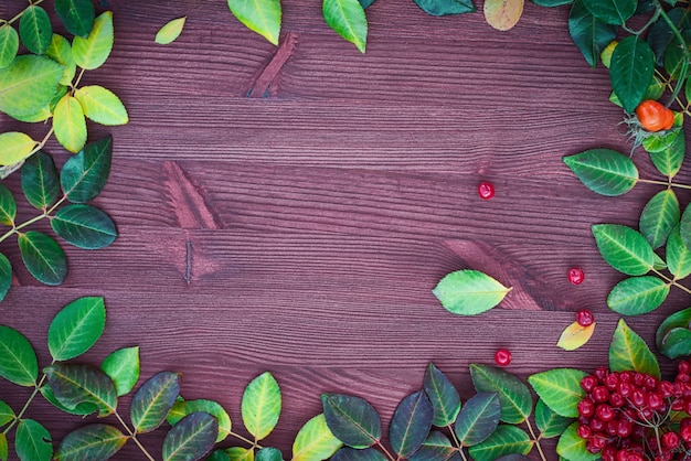
[[[465,447],[486,440],[497,429],[501,404],[497,393],[480,393],[472,396],[458,414],[454,427],[456,437]]]

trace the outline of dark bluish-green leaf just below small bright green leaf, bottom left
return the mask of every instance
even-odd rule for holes
[[[137,433],[157,429],[179,395],[180,380],[176,373],[160,372],[142,384],[130,405],[130,419]]]

